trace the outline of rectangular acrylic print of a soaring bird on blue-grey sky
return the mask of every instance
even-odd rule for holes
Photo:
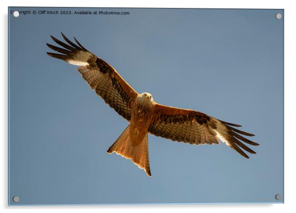
[[[284,202],[284,10],[9,7],[8,17],[9,205]],[[67,43],[60,32],[106,63],[78,44],[57,44],[50,35]],[[176,109],[161,111],[154,127],[141,117],[146,122],[134,127],[154,133],[148,134],[149,177],[131,160],[107,153],[127,120],[90,89],[78,66],[47,52],[88,63],[80,71],[95,73],[98,93],[105,87],[107,102],[114,95],[127,119],[137,115],[129,104],[138,97],[108,63],[157,103],[242,127],[195,112],[170,115]],[[152,103],[149,94],[141,97]],[[141,153],[138,164],[147,168],[146,141],[131,139],[136,127],[120,146]],[[231,128],[255,134],[238,132],[260,146],[235,141]],[[163,129],[171,139],[195,137],[196,144],[215,142],[215,133],[230,142],[197,146],[156,137]],[[229,147],[243,146],[239,141],[257,153],[243,150],[247,159]],[[142,152],[136,143],[144,144]]]

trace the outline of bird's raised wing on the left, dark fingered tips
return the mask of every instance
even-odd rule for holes
[[[77,70],[88,82],[89,87],[95,90],[119,115],[129,121],[131,119],[130,105],[138,93],[124,81],[111,65],[89,52],[75,37],[77,44],[70,41],[63,33],[61,34],[68,44],[51,36],[62,48],[51,44],[47,44],[47,46],[61,54],[47,54],[74,65],[81,65]]]

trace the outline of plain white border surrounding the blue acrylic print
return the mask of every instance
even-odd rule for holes
[[[2,212],[227,212],[227,213],[249,213],[249,212],[292,212],[295,211],[295,151],[296,141],[293,137],[295,123],[295,20],[296,11],[292,0],[10,0],[0,2],[1,10],[1,76],[0,76],[0,202]],[[285,9],[285,204],[235,204],[235,205],[134,205],[134,206],[72,206],[72,207],[8,207],[7,206],[7,6],[71,6],[71,7],[178,7],[178,8],[273,8]],[[293,39],[294,38],[294,39]],[[270,118],[270,122],[272,118]]]

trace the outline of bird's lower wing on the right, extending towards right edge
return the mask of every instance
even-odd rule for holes
[[[233,127],[240,125],[223,122],[194,110],[154,104],[154,117],[148,131],[155,136],[197,145],[220,144],[220,138],[246,158],[249,156],[240,148],[253,154],[256,153],[241,142],[254,146],[259,145],[239,135],[254,136]]]

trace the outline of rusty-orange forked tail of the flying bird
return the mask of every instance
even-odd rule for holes
[[[131,159],[131,161],[140,169],[144,169],[148,176],[151,176],[147,134],[145,135],[143,141],[138,146],[134,147],[132,146],[129,134],[128,125],[107,152],[109,154],[116,152],[127,159]]]

